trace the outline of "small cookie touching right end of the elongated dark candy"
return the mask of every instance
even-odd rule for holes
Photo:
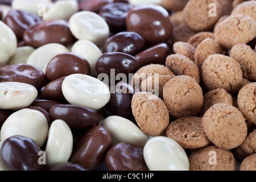
[[[195,61],[196,48],[187,42],[174,43],[174,53],[188,57],[191,61]]]

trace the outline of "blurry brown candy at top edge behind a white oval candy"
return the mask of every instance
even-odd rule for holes
[[[92,11],[98,13],[102,6],[113,2],[114,0],[80,0],[79,9],[80,11]]]

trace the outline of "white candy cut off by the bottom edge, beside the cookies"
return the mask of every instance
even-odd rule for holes
[[[188,156],[184,149],[168,137],[153,137],[143,148],[144,160],[150,171],[188,171]]]

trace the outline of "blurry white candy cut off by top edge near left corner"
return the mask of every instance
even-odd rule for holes
[[[45,16],[52,5],[51,0],[13,0],[11,3],[11,7],[15,10],[30,11],[40,17]]]

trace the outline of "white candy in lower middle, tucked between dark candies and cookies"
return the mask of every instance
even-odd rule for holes
[[[144,145],[147,143],[147,135],[144,134],[139,127],[137,127],[129,119],[111,115],[110,117],[104,119],[101,125],[105,126],[106,129],[109,130],[112,136],[113,145],[119,142],[128,142],[144,147]]]

